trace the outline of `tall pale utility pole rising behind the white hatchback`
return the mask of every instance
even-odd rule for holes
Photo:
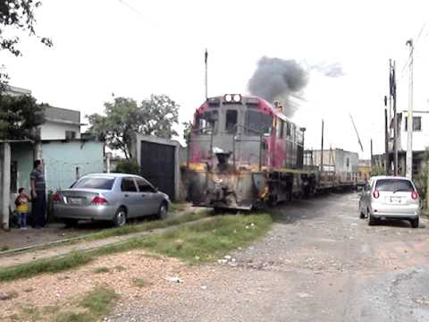
[[[413,177],[413,39],[407,41],[409,46],[409,91],[408,91],[408,116],[407,116],[407,178]]]

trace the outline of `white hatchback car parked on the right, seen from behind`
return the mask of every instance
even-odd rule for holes
[[[360,195],[359,213],[368,219],[368,225],[380,219],[400,219],[417,228],[420,198],[416,185],[405,177],[374,176]]]

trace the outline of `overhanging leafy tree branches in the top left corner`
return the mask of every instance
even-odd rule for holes
[[[17,31],[36,37],[47,47],[52,46],[52,40],[37,35],[34,25],[36,23],[35,9],[41,5],[40,1],[34,0],[3,0],[0,1],[0,50],[9,51],[13,55],[21,55],[21,50],[17,47],[20,37],[16,36]],[[8,32],[9,30],[13,32]],[[0,72],[0,85],[4,85],[8,80],[8,75]]]

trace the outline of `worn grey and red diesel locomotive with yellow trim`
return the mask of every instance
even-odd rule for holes
[[[315,192],[304,128],[260,97],[210,97],[194,115],[185,166],[195,206],[251,209]]]

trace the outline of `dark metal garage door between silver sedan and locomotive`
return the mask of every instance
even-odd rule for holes
[[[174,199],[173,146],[141,141],[140,173],[160,191]]]

